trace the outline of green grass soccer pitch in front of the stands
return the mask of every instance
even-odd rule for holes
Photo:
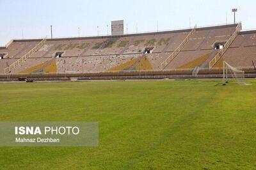
[[[0,121],[97,121],[99,147],[0,147],[0,169],[256,169],[256,81],[0,84]]]

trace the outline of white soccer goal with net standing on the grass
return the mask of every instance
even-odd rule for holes
[[[226,84],[230,79],[235,80],[238,84],[246,84],[244,80],[244,71],[234,68],[227,62],[223,61],[223,84]]]

